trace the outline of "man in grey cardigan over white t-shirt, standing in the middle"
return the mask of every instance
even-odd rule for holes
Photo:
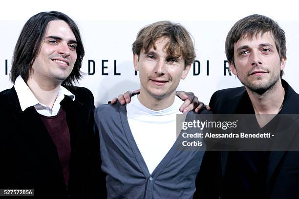
[[[204,152],[175,146],[182,103],[175,89],[195,58],[192,37],[180,24],[159,21],[139,31],[132,50],[140,94],[94,114],[108,198],[192,198]]]

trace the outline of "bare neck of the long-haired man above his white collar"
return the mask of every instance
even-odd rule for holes
[[[48,81],[37,81],[33,78],[26,83],[36,99],[52,109],[61,84],[50,84]]]

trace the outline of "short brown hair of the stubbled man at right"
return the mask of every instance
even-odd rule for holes
[[[225,40],[227,60],[230,63],[235,63],[234,45],[238,40],[247,37],[253,39],[259,33],[264,34],[266,32],[272,33],[280,60],[286,59],[285,35],[278,23],[263,15],[250,15],[238,20],[228,33]],[[283,71],[280,72],[280,77],[282,77],[282,74]]]

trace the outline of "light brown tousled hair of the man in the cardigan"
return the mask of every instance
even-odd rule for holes
[[[191,34],[181,24],[171,21],[158,21],[143,27],[132,44],[133,54],[139,57],[142,49],[146,52],[151,47],[156,49],[156,40],[163,37],[169,39],[165,46],[169,55],[182,57],[185,66],[193,63],[196,55]]]

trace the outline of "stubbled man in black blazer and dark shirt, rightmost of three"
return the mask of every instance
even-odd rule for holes
[[[299,95],[281,79],[286,46],[284,31],[277,22],[262,15],[237,21],[227,35],[225,51],[233,74],[244,86],[215,92],[209,104],[214,114],[299,114]],[[198,181],[206,187],[202,190],[220,187],[214,198],[299,198],[298,152],[218,155],[206,153],[201,172],[207,174],[207,180]],[[219,174],[219,178],[212,174]],[[213,185],[208,183],[210,179],[214,179]]]

